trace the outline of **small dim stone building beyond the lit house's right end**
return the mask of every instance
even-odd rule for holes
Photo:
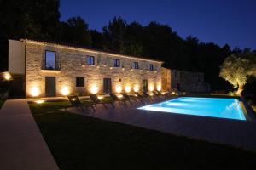
[[[202,72],[178,71],[166,68],[161,69],[163,90],[204,93],[207,92],[208,85],[204,82]]]

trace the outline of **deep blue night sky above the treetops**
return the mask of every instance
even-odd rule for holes
[[[157,21],[181,37],[256,49],[256,0],[61,0],[61,20],[71,16],[98,31],[114,16],[143,26]]]

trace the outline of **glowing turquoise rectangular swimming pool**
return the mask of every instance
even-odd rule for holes
[[[238,99],[181,97],[137,109],[246,120]]]

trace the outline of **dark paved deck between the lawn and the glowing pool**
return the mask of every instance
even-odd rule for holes
[[[137,110],[139,106],[142,105],[122,105],[114,109],[111,106],[109,109],[98,107],[96,112],[85,113],[77,108],[69,108],[67,111],[256,151],[255,122]]]

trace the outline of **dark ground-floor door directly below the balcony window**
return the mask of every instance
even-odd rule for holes
[[[56,95],[55,77],[45,77],[45,97],[54,97]]]

